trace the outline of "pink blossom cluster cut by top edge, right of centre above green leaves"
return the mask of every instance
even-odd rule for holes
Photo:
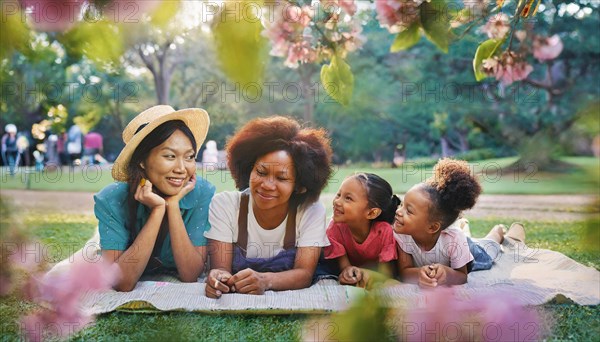
[[[381,27],[385,27],[390,33],[402,32],[419,20],[419,6],[423,1],[377,0],[375,1],[377,20]]]

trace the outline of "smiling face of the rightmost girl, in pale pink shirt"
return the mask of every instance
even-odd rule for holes
[[[429,195],[418,185],[413,186],[396,210],[394,231],[398,234],[410,235],[417,242],[426,241],[431,236],[430,205]]]

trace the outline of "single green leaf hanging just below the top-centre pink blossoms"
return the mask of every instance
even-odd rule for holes
[[[354,75],[342,58],[334,56],[329,65],[321,68],[321,83],[332,99],[347,106],[352,98]]]

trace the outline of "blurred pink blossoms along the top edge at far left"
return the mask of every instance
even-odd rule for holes
[[[16,1],[16,0],[9,0]],[[92,15],[104,15],[114,22],[138,22],[162,0],[19,0],[29,23],[39,31],[64,32],[83,20],[84,13],[93,8]],[[97,4],[102,6],[98,7]],[[96,21],[98,18],[94,18]],[[93,22],[92,21],[92,22]]]

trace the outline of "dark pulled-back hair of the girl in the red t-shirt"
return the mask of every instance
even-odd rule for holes
[[[369,208],[381,209],[381,214],[373,221],[394,222],[400,199],[394,195],[390,183],[374,173],[359,172],[350,177],[354,177],[365,187]]]

